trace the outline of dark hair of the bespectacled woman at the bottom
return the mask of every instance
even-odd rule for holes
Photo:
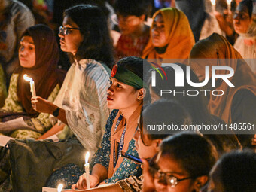
[[[218,157],[211,142],[197,133],[190,132],[163,139],[160,153],[177,160],[192,178],[209,175]]]

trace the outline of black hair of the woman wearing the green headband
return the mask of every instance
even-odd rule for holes
[[[148,64],[148,62],[145,62],[145,65],[144,65],[143,59],[140,57],[136,57],[136,56],[128,56],[123,59],[120,59],[117,62],[117,66],[123,66],[125,69],[138,75],[139,78],[141,78],[142,80],[143,80],[144,75],[147,74],[148,70],[150,69],[150,65]],[[146,89],[146,90],[147,90],[147,93],[143,99],[143,102],[145,102],[145,103],[151,101],[151,96],[149,94],[149,90],[148,89]]]

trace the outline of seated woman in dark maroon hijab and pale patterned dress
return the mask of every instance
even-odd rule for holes
[[[31,130],[17,130],[19,127],[13,127],[11,131],[15,131],[8,134],[18,139],[37,139],[52,124],[49,114],[39,114],[33,110],[29,81],[25,81],[23,75],[33,79],[37,96],[53,102],[65,75],[57,69],[59,49],[53,30],[44,25],[26,29],[20,40],[19,59],[20,67],[11,76],[8,97],[1,108],[2,121],[23,116]]]

